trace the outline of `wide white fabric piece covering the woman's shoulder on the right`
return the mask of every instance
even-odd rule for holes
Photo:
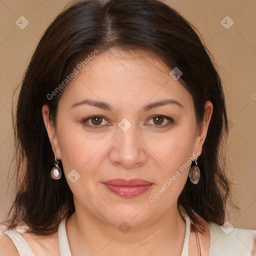
[[[256,230],[207,223],[210,231],[211,256],[256,255]]]

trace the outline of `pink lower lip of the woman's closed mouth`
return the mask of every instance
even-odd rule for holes
[[[152,184],[137,186],[115,186],[103,183],[110,191],[122,197],[134,197],[147,191]]]

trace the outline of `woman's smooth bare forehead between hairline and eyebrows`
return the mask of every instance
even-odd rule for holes
[[[169,72],[150,52],[112,48],[97,53],[78,70],[62,97],[67,100],[68,96],[70,103],[88,97],[113,103],[145,104],[163,97],[191,101],[188,91]]]

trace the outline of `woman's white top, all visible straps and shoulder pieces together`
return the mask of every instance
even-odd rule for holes
[[[190,219],[186,213],[186,230],[181,256],[188,256],[188,241],[190,234]],[[58,225],[58,242],[61,256],[71,256],[65,228],[66,218]],[[254,256],[256,255],[256,230],[223,227],[216,223],[207,223],[210,231],[210,256]],[[27,241],[18,231],[5,230],[16,246],[20,256],[35,256]],[[253,254],[254,253],[254,254]]]

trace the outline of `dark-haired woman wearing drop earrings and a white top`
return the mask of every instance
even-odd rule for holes
[[[71,5],[22,82],[0,255],[253,255],[256,231],[223,225],[227,130],[218,73],[175,10]]]

